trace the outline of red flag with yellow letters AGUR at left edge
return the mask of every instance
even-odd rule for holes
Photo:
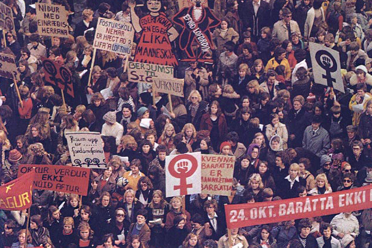
[[[33,178],[35,172],[31,171],[1,186],[0,209],[16,211],[31,207]]]

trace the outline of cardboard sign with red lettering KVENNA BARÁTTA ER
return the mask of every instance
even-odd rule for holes
[[[230,196],[234,156],[202,155],[202,193]]]

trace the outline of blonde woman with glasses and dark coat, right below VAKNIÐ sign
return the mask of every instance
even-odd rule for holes
[[[208,111],[208,104],[202,101],[199,91],[193,90],[190,92],[186,110],[187,115],[191,118],[191,123],[195,126],[196,131],[199,131],[202,115]]]

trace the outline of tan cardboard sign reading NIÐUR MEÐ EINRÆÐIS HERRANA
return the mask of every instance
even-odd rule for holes
[[[65,6],[35,3],[35,7],[39,35],[68,37],[68,12]]]

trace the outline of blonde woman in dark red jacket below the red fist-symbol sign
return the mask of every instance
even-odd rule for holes
[[[170,200],[169,213],[167,213],[165,228],[169,230],[173,226],[173,220],[176,216],[182,216],[185,220],[185,228],[191,231],[190,213],[182,207],[182,198],[180,196],[174,196]]]

